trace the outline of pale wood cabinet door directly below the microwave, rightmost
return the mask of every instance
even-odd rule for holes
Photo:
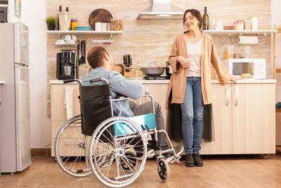
[[[275,153],[275,84],[233,84],[233,153]]]

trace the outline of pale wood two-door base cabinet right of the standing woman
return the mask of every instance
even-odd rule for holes
[[[202,154],[275,153],[275,84],[212,84],[215,141]]]

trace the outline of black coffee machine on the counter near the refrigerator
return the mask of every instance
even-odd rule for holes
[[[58,80],[78,79],[78,61],[76,50],[62,49],[57,54]]]

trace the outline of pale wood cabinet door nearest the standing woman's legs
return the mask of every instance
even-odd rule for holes
[[[231,127],[231,84],[211,84],[215,141],[202,140],[201,154],[230,154],[232,153]]]

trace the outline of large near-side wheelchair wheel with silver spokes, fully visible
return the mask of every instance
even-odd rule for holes
[[[129,132],[119,134],[118,130]],[[109,149],[106,151],[98,143],[109,143]],[[124,117],[112,117],[100,123],[89,144],[89,156],[93,156],[89,160],[91,170],[108,187],[124,187],[136,180],[143,171],[146,155],[147,143],[143,130]],[[98,161],[99,156],[107,158]]]

